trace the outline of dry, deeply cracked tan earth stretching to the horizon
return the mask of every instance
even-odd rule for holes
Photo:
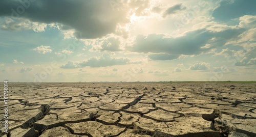
[[[256,136],[256,83],[9,83],[1,136]]]

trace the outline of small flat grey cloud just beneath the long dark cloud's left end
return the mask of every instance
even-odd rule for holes
[[[179,58],[178,55],[172,55],[172,54],[168,54],[168,53],[157,53],[157,54],[151,53],[151,54],[148,54],[147,57],[153,61],[156,61],[156,60],[166,61],[166,60],[174,60],[174,59]]]

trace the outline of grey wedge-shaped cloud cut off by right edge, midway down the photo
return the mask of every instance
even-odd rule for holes
[[[256,48],[248,51],[243,59],[235,64],[236,66],[251,66],[256,65]]]

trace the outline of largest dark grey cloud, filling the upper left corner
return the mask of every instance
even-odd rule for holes
[[[0,1],[0,16],[60,23],[64,30],[75,29],[77,38],[89,39],[115,33],[119,23],[128,21],[125,10],[117,12],[109,1],[100,0],[3,0]]]

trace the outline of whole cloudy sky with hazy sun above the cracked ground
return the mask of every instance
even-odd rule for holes
[[[256,80],[254,0],[2,0],[0,79]]]

